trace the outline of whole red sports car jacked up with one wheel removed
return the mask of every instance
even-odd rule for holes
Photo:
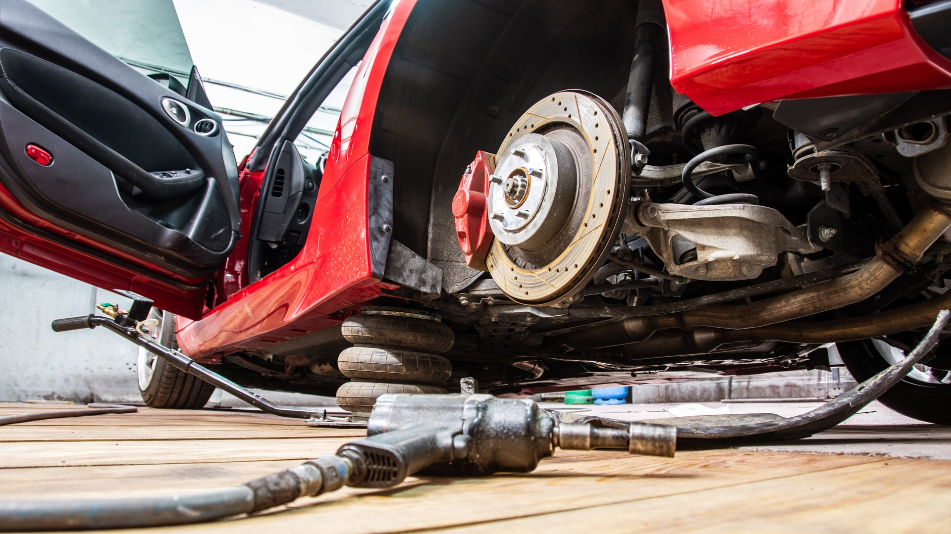
[[[863,379],[951,301],[949,25],[949,0],[381,0],[236,162],[195,71],[146,77],[5,0],[0,251],[357,416],[464,376]],[[140,360],[149,406],[204,405]],[[945,343],[883,402],[951,424],[949,371]]]

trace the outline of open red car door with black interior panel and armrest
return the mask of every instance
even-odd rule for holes
[[[0,252],[197,318],[238,237],[237,165],[197,71],[156,82],[0,2]]]

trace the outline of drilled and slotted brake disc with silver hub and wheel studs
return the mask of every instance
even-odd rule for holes
[[[563,302],[604,261],[626,212],[631,155],[621,118],[600,97],[557,92],[518,119],[496,154],[489,272],[516,302]]]

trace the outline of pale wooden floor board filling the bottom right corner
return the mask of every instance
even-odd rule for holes
[[[567,532],[949,532],[951,470],[937,461],[874,462],[687,491],[450,531],[478,534],[524,528]],[[940,468],[936,468],[940,467]],[[925,497],[926,496],[926,497]],[[928,501],[923,505],[922,498]],[[689,511],[689,513],[684,513]],[[716,522],[703,518],[715,517]]]

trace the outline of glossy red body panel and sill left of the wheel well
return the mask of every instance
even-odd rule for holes
[[[338,324],[362,302],[380,296],[381,289],[397,287],[372,276],[369,144],[379,88],[415,5],[415,0],[401,0],[363,57],[340,113],[301,254],[234,293],[200,320],[181,321],[177,340],[185,353],[207,357],[238,349],[266,350],[273,343]],[[260,177],[251,174],[243,173],[248,183],[242,187],[243,202],[252,181],[260,185]],[[254,205],[243,209],[253,213]],[[250,227],[244,228],[249,233]],[[238,262],[243,260],[235,254],[236,259],[229,259],[232,275],[240,274]],[[225,270],[223,276],[227,275]]]

